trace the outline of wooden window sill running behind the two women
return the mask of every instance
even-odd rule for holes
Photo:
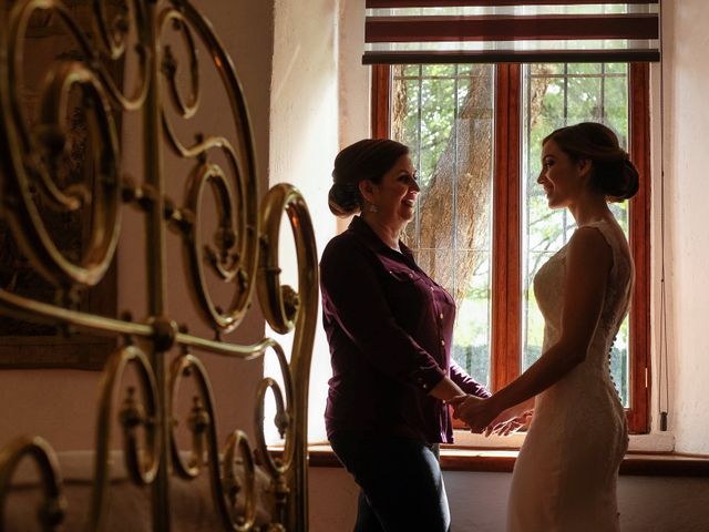
[[[475,434],[471,434],[475,436]],[[482,437],[481,437],[482,438]],[[668,434],[638,434],[630,437],[630,450],[620,464],[621,475],[650,477],[709,477],[709,457],[695,457],[657,450],[667,446]],[[463,438],[465,439],[465,438]],[[517,440],[516,446],[512,446]],[[465,439],[466,440],[466,439]],[[507,447],[495,447],[492,438],[486,446],[459,443],[441,449],[441,468],[444,471],[510,473],[517,458],[518,444],[524,436],[505,438]],[[500,438],[502,440],[502,438]],[[655,449],[655,450],[651,450]],[[311,444],[308,447],[310,467],[340,468],[340,462],[330,446]]]

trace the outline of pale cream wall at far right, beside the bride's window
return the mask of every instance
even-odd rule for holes
[[[670,427],[678,451],[709,453],[705,391],[709,378],[709,35],[701,29],[709,23],[709,3],[666,1],[662,13],[668,350],[674,383]],[[657,168],[655,175],[659,176]],[[657,181],[655,195],[659,196]]]

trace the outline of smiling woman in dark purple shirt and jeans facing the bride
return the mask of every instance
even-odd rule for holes
[[[360,485],[356,531],[445,532],[439,443],[445,401],[489,397],[451,360],[455,304],[399,239],[420,192],[409,149],[363,140],[335,160],[329,205],[349,228],[320,262],[331,354],[325,415],[332,449]]]

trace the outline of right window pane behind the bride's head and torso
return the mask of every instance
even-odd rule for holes
[[[536,306],[533,282],[536,272],[571,238],[575,229],[566,209],[551,211],[536,177],[541,170],[541,143],[553,130],[577,122],[603,122],[627,149],[627,65],[563,64],[525,65],[523,69],[523,226],[522,226],[522,370],[542,354],[544,320]],[[628,232],[627,204],[612,211]],[[610,372],[623,403],[629,405],[629,337],[627,319],[612,350]]]

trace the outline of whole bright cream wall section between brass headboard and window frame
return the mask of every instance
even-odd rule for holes
[[[277,0],[275,20],[270,184],[288,182],[301,191],[322,250],[347,223],[336,221],[327,205],[332,161],[341,147],[369,136],[370,69],[360,62],[363,2]],[[289,229],[284,225],[281,232]],[[285,241],[284,279],[295,286],[295,250]],[[266,374],[278,378],[275,360],[266,360]],[[318,324],[310,375],[310,441],[326,438],[322,413],[329,375],[329,350]],[[277,440],[274,430],[270,439]]]

